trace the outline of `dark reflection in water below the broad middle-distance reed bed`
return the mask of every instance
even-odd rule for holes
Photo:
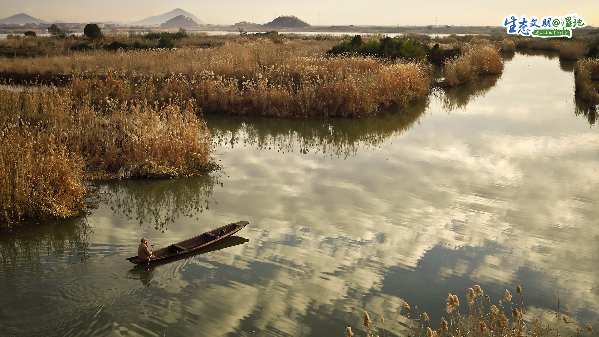
[[[398,112],[364,118],[255,118],[205,115],[217,146],[249,145],[261,150],[353,157],[359,148],[376,148],[410,130],[428,107],[413,102]],[[240,143],[241,142],[241,143]]]

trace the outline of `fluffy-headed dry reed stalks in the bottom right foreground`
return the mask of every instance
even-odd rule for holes
[[[459,299],[455,294],[449,294],[447,296],[445,310],[450,317],[449,323],[444,317],[441,317],[440,326],[438,330],[434,330],[430,326],[428,314],[423,313],[424,322],[419,329],[412,330],[412,319],[410,319],[410,306],[403,302],[403,310],[406,310],[408,314],[402,315],[401,321],[408,320],[409,322],[401,323],[405,330],[395,331],[395,335],[406,336],[406,337],[578,337],[580,333],[586,332],[589,335],[592,334],[593,329],[589,324],[585,325],[585,329],[582,330],[576,324],[576,327],[572,329],[570,324],[573,322],[568,321],[565,315],[561,315],[561,308],[559,307],[558,299],[558,311],[555,312],[555,321],[541,323],[539,317],[532,317],[532,321],[524,319],[524,297],[522,296],[522,288],[520,285],[516,285],[516,293],[520,295],[520,309],[512,308],[512,295],[509,290],[506,290],[506,294],[502,300],[498,300],[497,305],[491,304],[491,298],[484,295],[483,290],[479,285],[473,288],[468,288],[468,294],[466,298],[468,300],[468,315],[461,315],[458,311]],[[484,296],[484,297],[483,297]],[[507,305],[509,303],[509,305]],[[567,305],[568,312],[571,312],[571,308]],[[506,311],[509,317],[506,316]],[[364,311],[362,317],[368,317],[368,312]],[[530,316],[529,316],[530,317]],[[561,319],[560,319],[561,317]],[[365,322],[365,321],[364,321]],[[416,320],[419,323],[419,319]],[[383,323],[383,320],[381,320]],[[426,324],[426,329],[425,329]],[[566,325],[562,327],[562,333],[559,332],[560,325]],[[407,325],[407,328],[405,326]],[[368,335],[370,336],[371,322],[368,320],[368,324],[364,323],[364,326],[368,327]],[[351,328],[347,327],[351,332]],[[347,330],[346,329],[346,336]],[[353,333],[352,333],[353,336]],[[349,336],[351,337],[351,336]]]

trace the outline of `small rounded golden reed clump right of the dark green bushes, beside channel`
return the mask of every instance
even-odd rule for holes
[[[463,55],[445,64],[445,82],[450,86],[469,83],[479,75],[500,74],[503,62],[497,49],[489,46],[471,47]]]

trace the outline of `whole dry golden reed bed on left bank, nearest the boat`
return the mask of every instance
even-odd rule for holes
[[[67,218],[84,209],[84,179],[180,177],[211,169],[211,137],[189,103],[109,103],[68,91],[0,91],[0,222]]]

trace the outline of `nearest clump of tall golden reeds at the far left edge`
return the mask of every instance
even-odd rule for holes
[[[0,131],[0,222],[65,218],[84,209],[83,160],[40,125],[17,120]]]

